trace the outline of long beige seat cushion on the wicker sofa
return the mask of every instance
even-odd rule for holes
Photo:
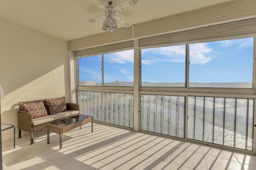
[[[61,119],[63,117],[72,116],[72,115],[75,115],[75,114],[78,114],[78,113],[79,113],[79,111],[77,111],[77,110],[67,110],[67,111],[63,111],[63,112],[58,113],[58,114],[47,115],[45,117],[39,117],[37,119],[33,119],[33,126],[41,125],[43,123],[48,123],[48,122],[51,122],[51,121],[55,121],[55,120]]]

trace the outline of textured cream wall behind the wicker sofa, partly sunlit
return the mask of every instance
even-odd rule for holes
[[[0,18],[2,123],[17,127],[18,102],[62,96],[70,101],[67,48],[67,41]],[[12,132],[3,131],[2,141],[12,139]]]

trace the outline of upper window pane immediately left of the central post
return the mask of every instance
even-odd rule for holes
[[[133,86],[133,49],[104,54],[103,61],[104,86]]]

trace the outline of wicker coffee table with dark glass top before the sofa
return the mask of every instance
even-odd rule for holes
[[[47,144],[50,143],[50,132],[58,133],[60,135],[60,149],[62,149],[62,133],[80,127],[86,123],[92,123],[92,132],[93,132],[93,117],[89,115],[78,115],[66,119],[66,123],[57,124],[57,123],[48,123],[47,124]],[[57,124],[57,125],[55,125]]]

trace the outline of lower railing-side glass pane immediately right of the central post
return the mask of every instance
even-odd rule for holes
[[[140,129],[184,138],[184,96],[140,96]]]

